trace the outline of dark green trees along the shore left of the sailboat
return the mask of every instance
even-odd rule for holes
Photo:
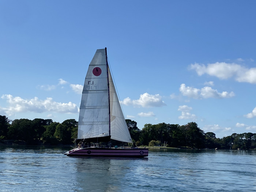
[[[35,118],[8,120],[0,116],[0,140],[14,140],[28,145],[72,144],[77,135],[78,122],[75,119],[53,122],[51,119]]]

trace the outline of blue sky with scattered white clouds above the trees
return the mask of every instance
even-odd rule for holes
[[[256,1],[0,1],[0,115],[78,120],[107,47],[125,118],[256,132]]]

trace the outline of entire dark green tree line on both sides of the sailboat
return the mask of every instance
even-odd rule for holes
[[[215,133],[204,133],[195,122],[186,125],[159,123],[145,124],[142,130],[136,121],[125,120],[133,143],[136,146],[166,146],[187,148],[250,149],[256,147],[256,133],[233,133],[216,138]],[[35,118],[9,120],[0,115],[0,142],[13,140],[13,143],[28,145],[74,144],[78,131],[75,119],[53,122],[51,119]]]

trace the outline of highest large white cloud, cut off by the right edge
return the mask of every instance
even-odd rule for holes
[[[190,69],[197,72],[197,75],[208,74],[219,79],[228,79],[234,77],[238,82],[256,84],[256,68],[246,68],[236,63],[217,62],[212,64],[191,64]]]

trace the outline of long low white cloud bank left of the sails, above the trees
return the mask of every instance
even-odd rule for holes
[[[6,108],[1,108],[6,114],[13,115],[15,113],[23,112],[59,112],[59,113],[78,113],[78,107],[76,104],[68,103],[58,103],[53,101],[52,98],[46,98],[45,100],[40,100],[37,97],[27,100],[21,97],[13,97],[12,95],[3,95],[2,99],[6,99],[9,106]]]

